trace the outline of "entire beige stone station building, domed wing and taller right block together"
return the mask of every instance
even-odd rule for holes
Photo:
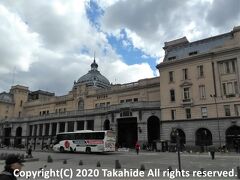
[[[43,146],[59,132],[116,131],[119,146],[240,146],[240,27],[165,42],[160,77],[111,84],[95,59],[64,96],[21,85],[0,93],[0,143]],[[164,145],[164,144],[162,144]],[[239,148],[240,149],[240,148]]]

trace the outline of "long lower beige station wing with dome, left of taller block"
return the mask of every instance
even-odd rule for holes
[[[97,67],[94,60],[91,70],[64,96],[41,90],[31,92],[20,85],[1,93],[2,143],[18,145],[34,141],[37,146],[59,132],[83,129],[115,130],[120,145],[126,147],[134,146],[137,140],[147,143],[159,139],[160,128],[155,135],[148,135],[149,119],[160,127],[159,77],[111,85]],[[19,136],[24,138],[17,140]]]

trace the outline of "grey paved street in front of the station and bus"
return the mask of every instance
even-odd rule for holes
[[[24,151],[16,151],[16,150],[0,150],[0,153],[24,153]],[[51,155],[53,159],[53,163],[47,163],[47,156]],[[163,153],[163,152],[140,152],[139,155],[136,155],[134,151],[130,152],[114,152],[114,153],[107,153],[107,154],[81,154],[81,153],[50,153],[50,152],[33,152],[33,156],[39,158],[39,161],[35,162],[26,162],[23,168],[24,171],[32,170],[37,171],[40,168],[44,168],[45,170],[49,170],[50,168],[53,169],[72,169],[73,170],[73,177],[76,178],[76,174],[79,173],[77,169],[92,169],[97,170],[99,174],[96,174],[97,178],[106,178],[106,174],[102,169],[112,170],[115,168],[115,160],[119,160],[121,164],[121,170],[130,169],[137,170],[140,168],[141,164],[145,165],[145,176],[149,173],[149,170],[160,169],[160,175],[162,176],[162,171],[166,171],[169,166],[172,167],[173,170],[178,168],[178,161],[177,161],[177,153]],[[63,164],[63,161],[67,160],[67,164]],[[83,165],[79,166],[79,161],[82,160]],[[101,167],[96,167],[97,162],[100,161]],[[181,162],[182,162],[182,169],[185,171],[190,171],[192,179],[192,171],[199,171],[201,168],[204,168],[206,171],[231,171],[234,169],[235,175],[236,167],[240,165],[240,156],[234,153],[226,153],[226,154],[216,154],[216,159],[211,160],[207,153],[204,154],[189,154],[189,153],[181,153]],[[45,167],[44,167],[45,166]],[[0,170],[3,169],[3,162],[0,164]],[[90,172],[89,172],[90,173]],[[158,175],[154,175],[148,178],[152,179]],[[93,177],[93,179],[96,179]],[[135,179],[139,179],[138,176]],[[156,177],[159,178],[159,177]],[[23,178],[24,179],[24,178]],[[30,178],[33,179],[33,178]],[[40,178],[37,178],[40,179]],[[51,178],[54,179],[54,178]],[[57,178],[56,178],[57,179]],[[65,178],[67,179],[67,178]],[[111,175],[108,179],[114,179]],[[125,178],[126,179],[126,178]],[[129,178],[133,179],[133,178]],[[161,178],[163,179],[163,178]],[[164,179],[171,179],[166,177]],[[174,179],[172,177],[172,179]],[[181,179],[181,178],[175,178]],[[186,179],[186,178],[182,178]],[[199,178],[199,179],[207,179],[207,178]],[[217,179],[212,178],[212,179]],[[218,178],[221,179],[221,178]],[[237,177],[233,178],[222,178],[222,179],[237,179]]]

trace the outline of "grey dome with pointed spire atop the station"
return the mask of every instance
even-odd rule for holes
[[[87,86],[95,86],[100,88],[107,88],[110,87],[110,82],[106,77],[104,77],[99,71],[98,71],[98,64],[95,61],[91,64],[91,70],[88,71],[87,74],[83,75],[78,79],[78,81],[74,84],[74,86],[78,84],[86,84]]]

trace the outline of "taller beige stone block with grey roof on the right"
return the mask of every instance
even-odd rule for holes
[[[207,39],[165,43],[161,138],[178,129],[187,146],[235,146],[240,135],[240,27]],[[235,134],[236,135],[235,135]],[[239,144],[239,143],[238,143]]]

